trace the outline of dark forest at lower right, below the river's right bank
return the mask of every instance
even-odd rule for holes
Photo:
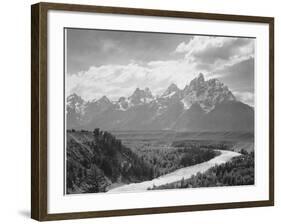
[[[235,186],[254,184],[254,152],[240,151],[241,156],[230,162],[216,165],[205,173],[197,173],[189,179],[182,179],[170,184],[154,186],[148,190],[197,188],[216,186]]]

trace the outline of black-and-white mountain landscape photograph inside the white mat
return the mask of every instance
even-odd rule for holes
[[[255,41],[65,28],[65,193],[255,185]]]

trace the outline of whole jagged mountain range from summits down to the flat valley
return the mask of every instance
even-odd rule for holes
[[[183,89],[172,83],[160,96],[136,88],[129,97],[85,101],[67,97],[67,128],[94,130],[253,131],[254,108],[218,79],[200,73]]]

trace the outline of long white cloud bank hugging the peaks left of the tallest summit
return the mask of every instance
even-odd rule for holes
[[[130,96],[137,87],[148,87],[160,94],[172,82],[184,88],[197,74],[195,64],[186,60],[92,66],[88,71],[67,76],[67,95],[75,92],[86,100],[107,95],[116,100]]]

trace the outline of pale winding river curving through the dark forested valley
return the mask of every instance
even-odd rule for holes
[[[131,183],[131,184],[119,186],[109,190],[108,193],[146,191],[147,188],[149,187],[151,188],[153,187],[153,185],[159,186],[159,185],[179,181],[182,178],[188,179],[192,175],[197,174],[198,172],[203,173],[215,165],[226,163],[229,160],[231,160],[233,157],[240,155],[240,153],[232,152],[232,151],[226,151],[226,150],[217,150],[217,151],[221,152],[221,154],[206,162],[199,163],[194,166],[184,167],[149,181],[144,181],[141,183]]]

